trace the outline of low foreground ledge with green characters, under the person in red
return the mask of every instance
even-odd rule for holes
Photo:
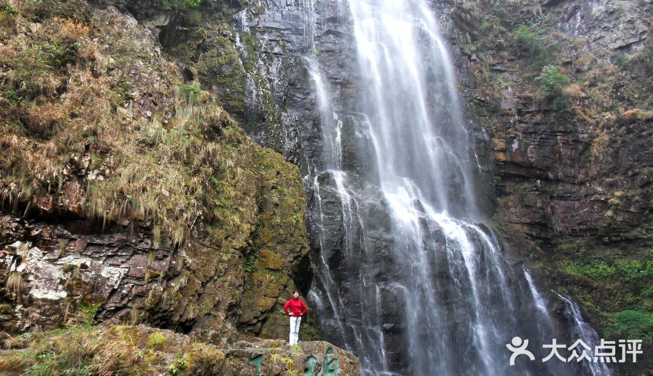
[[[37,338],[35,338],[37,339]],[[129,375],[359,375],[358,359],[326,342],[240,341],[231,347],[198,342],[187,335],[147,326],[80,329],[13,343],[0,352],[3,375],[18,375],[47,364],[51,371],[121,371]],[[80,341],[67,345],[65,341]],[[24,348],[22,348],[24,347]],[[40,356],[25,356],[35,352]],[[57,358],[57,355],[59,357]],[[48,357],[49,356],[49,357]],[[78,360],[77,364],[73,363]],[[74,368],[71,368],[74,367]],[[68,367],[68,368],[66,368]]]

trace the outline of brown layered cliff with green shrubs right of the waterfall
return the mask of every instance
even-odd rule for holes
[[[653,330],[649,1],[451,2],[509,248],[606,339]],[[483,146],[481,146],[483,149]],[[560,307],[556,307],[560,309]],[[648,344],[647,344],[648,343]],[[624,374],[651,371],[648,360]]]

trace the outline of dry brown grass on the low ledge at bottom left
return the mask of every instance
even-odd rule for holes
[[[219,375],[225,355],[203,343],[134,326],[68,326],[5,339],[0,373],[59,375]],[[174,370],[174,371],[173,371]]]

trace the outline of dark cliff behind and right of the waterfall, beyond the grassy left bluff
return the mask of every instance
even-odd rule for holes
[[[310,69],[323,71],[344,131],[364,132],[352,101],[358,73],[343,6],[258,2],[224,5],[221,18],[142,14],[187,75],[220,97],[257,143],[300,166],[313,256],[336,250],[324,255],[333,265],[342,203],[332,177],[315,176],[328,150]],[[579,299],[604,337],[648,339],[650,2],[479,0],[434,8],[494,186],[477,201],[503,229],[507,252],[536,267],[540,285]],[[369,171],[356,163],[368,145],[342,148],[347,169]],[[323,188],[319,197],[314,184]],[[368,196],[380,202],[371,188]],[[379,223],[374,246],[383,248],[383,205],[370,215]],[[562,304],[552,309],[562,314]],[[639,326],[624,324],[628,315]]]

